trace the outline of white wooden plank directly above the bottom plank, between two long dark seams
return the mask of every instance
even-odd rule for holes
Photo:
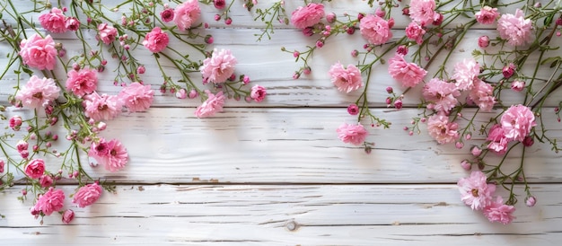
[[[211,119],[196,119],[193,112],[193,108],[153,108],[109,121],[101,135],[120,139],[130,163],[124,171],[110,173],[100,167],[92,174],[127,183],[456,183],[468,175],[460,163],[471,157],[470,145],[484,142],[474,132],[461,150],[437,145],[423,126],[421,135],[408,136],[403,127],[411,127],[418,110],[373,110],[392,127],[368,127],[367,141],[375,143],[371,154],[338,139],[336,128],[356,120],[345,109],[231,108]],[[15,113],[21,112],[9,115]],[[482,124],[492,116],[482,114],[476,122]],[[543,117],[549,136],[562,139],[554,113],[544,112]],[[66,136],[62,128],[48,130],[60,139]],[[17,140],[14,137],[12,143]],[[65,141],[58,142],[53,149],[65,150]],[[499,163],[500,157],[491,154],[486,160]],[[520,149],[515,149],[505,166],[517,167],[520,157]],[[52,171],[60,162],[49,162]],[[559,154],[549,145],[537,142],[527,149],[525,162],[529,181],[562,181]]]

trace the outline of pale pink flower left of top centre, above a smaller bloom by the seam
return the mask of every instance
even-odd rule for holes
[[[199,68],[203,75],[203,81],[211,83],[224,83],[234,74],[234,66],[238,61],[230,49],[213,50],[213,55],[203,60],[203,66]]]

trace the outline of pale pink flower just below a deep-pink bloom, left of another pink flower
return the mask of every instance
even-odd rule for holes
[[[83,100],[84,115],[95,121],[114,119],[121,112],[121,101],[115,95],[99,95],[98,92],[93,92],[83,96]]]

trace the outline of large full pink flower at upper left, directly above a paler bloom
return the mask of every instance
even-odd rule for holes
[[[55,41],[50,35],[43,39],[36,33],[31,35],[29,39],[22,40],[19,54],[22,57],[23,64],[40,70],[53,70],[55,64],[57,64],[58,52],[55,48]]]

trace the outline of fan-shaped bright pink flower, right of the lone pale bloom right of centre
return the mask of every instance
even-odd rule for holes
[[[404,56],[396,54],[389,59],[389,74],[402,86],[414,87],[424,79],[427,71],[415,63],[406,62]]]

